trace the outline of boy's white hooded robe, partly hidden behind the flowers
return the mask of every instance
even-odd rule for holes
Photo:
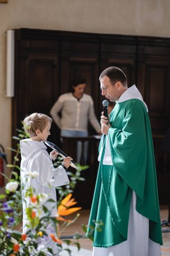
[[[20,178],[22,186],[22,207],[23,207],[23,233],[27,232],[27,214],[26,208],[31,204],[29,196],[26,197],[28,188],[35,189],[35,195],[46,194],[48,198],[54,200],[53,202],[42,203],[52,211],[52,215],[56,216],[57,211],[57,198],[56,187],[69,184],[68,175],[65,168],[59,166],[54,168],[52,160],[47,152],[47,147],[41,141],[32,141],[31,139],[20,141],[21,163],[20,163]],[[28,173],[38,172],[36,178],[31,177]],[[43,212],[42,212],[43,214]],[[47,234],[56,233],[54,225],[48,225],[45,229]],[[40,239],[41,247],[52,248],[52,239],[45,237]],[[58,248],[52,248],[54,252],[58,252]]]

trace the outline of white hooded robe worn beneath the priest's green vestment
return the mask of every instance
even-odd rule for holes
[[[118,103],[129,99],[139,99],[144,103],[143,97],[135,85],[121,95]],[[148,111],[145,103],[144,106]],[[112,165],[111,149],[107,136],[105,136],[105,140],[103,164]],[[98,161],[101,159],[102,150],[103,148],[101,148]],[[161,256],[160,244],[149,239],[149,220],[135,210],[135,205],[136,195],[132,191],[127,241],[108,248],[93,247],[93,256]]]

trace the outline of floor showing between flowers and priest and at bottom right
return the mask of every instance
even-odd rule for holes
[[[82,231],[82,224],[88,223],[89,211],[84,210],[80,211],[81,215],[75,223],[70,225],[70,227],[66,228],[65,232],[63,232],[63,236],[72,236],[75,232],[79,232],[79,234],[84,234]],[[168,210],[167,208],[160,207],[160,218],[161,221],[167,220],[168,218]],[[164,244],[161,246],[162,256],[170,256],[170,226],[163,227],[162,236]],[[169,230],[169,232],[165,232]],[[92,255],[92,244],[89,239],[80,239],[81,251],[77,252],[77,248],[72,247],[72,256],[91,256]],[[63,252],[61,256],[67,256],[66,252]],[[154,256],[154,255],[153,255]]]

